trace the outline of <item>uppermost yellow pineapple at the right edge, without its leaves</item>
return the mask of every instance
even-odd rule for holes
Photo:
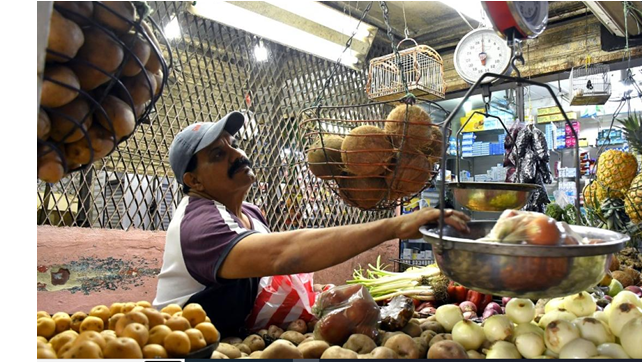
[[[608,150],[597,160],[597,179],[612,198],[624,197],[638,172],[638,162],[631,153]]]

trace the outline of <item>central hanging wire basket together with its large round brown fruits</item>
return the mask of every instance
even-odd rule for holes
[[[418,194],[437,173],[443,147],[441,126],[425,109],[448,112],[417,101],[304,109],[298,119],[308,169],[362,210],[390,209]]]

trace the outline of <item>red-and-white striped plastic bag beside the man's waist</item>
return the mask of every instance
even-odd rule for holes
[[[309,322],[314,318],[316,296],[312,273],[263,277],[246,326],[256,331],[271,325],[285,327],[297,319]]]

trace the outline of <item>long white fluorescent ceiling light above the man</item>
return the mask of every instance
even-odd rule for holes
[[[264,39],[361,69],[377,28],[315,1],[196,1],[187,10]],[[356,34],[342,53],[346,41]],[[343,54],[343,55],[342,55]]]

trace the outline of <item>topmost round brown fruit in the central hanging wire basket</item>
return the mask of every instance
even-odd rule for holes
[[[406,120],[406,107],[408,107],[408,117]],[[425,151],[431,143],[431,127],[430,116],[426,111],[419,106],[410,106],[401,104],[390,112],[388,120],[394,122],[386,122],[384,129],[392,135],[392,144],[400,148],[402,141],[404,141],[404,124],[407,124],[406,137],[404,150],[412,152],[413,150]],[[406,149],[406,147],[408,147]]]

